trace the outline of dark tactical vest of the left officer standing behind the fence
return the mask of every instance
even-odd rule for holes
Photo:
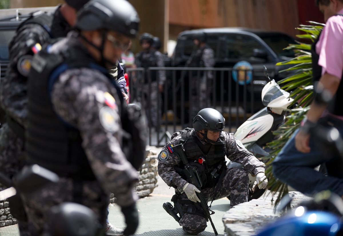
[[[148,83],[149,79],[151,82],[154,82],[157,80],[157,74],[156,74],[157,71],[156,70],[148,71],[149,67],[157,66],[155,52],[156,52],[155,50],[149,50],[149,52],[142,51],[140,52],[138,56],[139,61],[141,62],[141,66],[145,69],[144,83]]]

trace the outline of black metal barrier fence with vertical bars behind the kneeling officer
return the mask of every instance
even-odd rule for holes
[[[161,72],[166,74],[167,79],[162,93],[156,96],[156,84],[161,81],[159,76],[156,76],[156,81],[151,78],[153,73]],[[149,145],[163,146],[170,140],[171,133],[192,127],[192,119],[196,115],[194,110],[205,107],[217,109],[225,118],[224,130],[235,132],[251,114],[263,107],[261,91],[265,83],[256,84],[251,80],[254,71],[151,67],[147,71],[144,68],[128,68],[127,73],[130,103],[140,102],[148,120],[157,114],[157,123],[148,122]],[[157,104],[157,110],[151,111],[154,104]]]

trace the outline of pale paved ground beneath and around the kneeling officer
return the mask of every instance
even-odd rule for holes
[[[140,226],[135,235],[144,236],[174,236],[174,235],[188,235],[185,234],[181,226],[167,214],[162,208],[164,202],[170,202],[171,196],[174,194],[174,189],[163,182],[161,178],[158,179],[158,187],[155,188],[150,197],[142,198],[138,201],[138,209],[140,214]],[[222,217],[229,209],[230,201],[228,199],[220,199],[214,201],[212,210],[216,213],[212,215],[212,220],[218,231],[218,234],[224,235],[224,225]],[[117,205],[111,204],[109,207],[109,221],[117,227],[124,228],[125,223],[120,209]],[[206,230],[199,235],[213,235],[211,224]],[[0,228],[1,236],[19,236],[17,225]]]

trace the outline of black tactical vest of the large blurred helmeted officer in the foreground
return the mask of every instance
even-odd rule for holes
[[[94,68],[106,76],[107,70],[98,66],[81,47],[72,47],[60,54],[50,54],[48,48],[34,57],[28,80],[27,162],[60,176],[95,180],[81,146],[79,130],[55,113],[50,93],[54,82],[67,69]]]

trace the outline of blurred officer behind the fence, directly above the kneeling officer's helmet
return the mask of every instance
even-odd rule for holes
[[[214,67],[214,51],[206,44],[206,34],[199,32],[193,36],[195,48],[186,62],[187,67]],[[210,106],[212,92],[212,71],[192,71],[190,94],[190,116],[194,117],[198,111]]]

